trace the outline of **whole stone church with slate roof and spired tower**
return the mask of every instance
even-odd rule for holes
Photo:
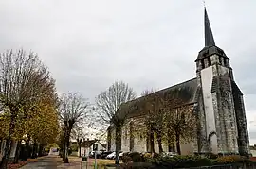
[[[199,51],[196,63],[196,77],[167,89],[151,93],[150,95],[173,95],[174,99],[182,99],[183,103],[192,106],[192,111],[197,114],[200,128],[195,136],[195,141],[181,144],[181,154],[202,153],[249,153],[249,138],[247,119],[244,107],[243,93],[233,77],[233,70],[225,52],[216,46],[210,21],[205,9],[205,47]],[[187,92],[185,95],[182,94]],[[144,134],[131,135],[133,128],[139,121],[145,120],[142,108],[146,104],[146,97],[142,96],[120,106],[117,113],[127,113],[124,125],[121,127],[121,140],[119,150],[149,152],[150,144]],[[177,105],[178,106],[178,105]],[[125,112],[124,112],[125,111]],[[112,125],[108,128],[108,150],[115,151],[116,129]],[[206,139],[199,139],[206,138]],[[200,144],[200,148],[199,148]],[[155,141],[155,152],[158,145]],[[163,143],[163,151],[170,148]]]

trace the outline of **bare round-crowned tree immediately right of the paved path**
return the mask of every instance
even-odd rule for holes
[[[63,94],[60,99],[59,116],[64,127],[64,162],[68,163],[70,135],[75,125],[82,123],[89,112],[89,103],[76,93]]]

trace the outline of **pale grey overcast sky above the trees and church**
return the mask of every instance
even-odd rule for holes
[[[245,94],[256,144],[256,1],[206,0],[216,45]],[[137,95],[195,77],[204,47],[202,0],[1,0],[0,52],[38,53],[60,93],[92,102],[121,79]]]

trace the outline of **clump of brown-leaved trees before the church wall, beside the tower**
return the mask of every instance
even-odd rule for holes
[[[151,152],[155,152],[156,138],[159,152],[163,152],[163,142],[169,145],[169,151],[174,151],[174,144],[178,154],[181,153],[180,142],[189,142],[196,134],[196,115],[193,105],[184,104],[181,99],[164,98],[154,91],[145,91],[147,96],[144,106],[146,132],[149,134]],[[140,131],[141,132],[141,131]]]

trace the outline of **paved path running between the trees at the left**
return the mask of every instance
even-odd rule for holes
[[[58,161],[56,156],[47,156],[42,159],[38,159],[37,162],[28,163],[21,169],[57,169]]]

